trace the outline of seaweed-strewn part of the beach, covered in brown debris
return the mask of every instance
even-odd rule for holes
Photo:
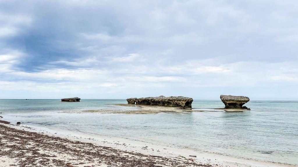
[[[23,128],[23,127],[22,127]],[[26,128],[26,127],[24,127]],[[28,128],[28,127],[27,127]],[[210,166],[0,125],[1,166]],[[73,136],[75,137],[75,136]],[[119,144],[119,143],[116,143]],[[144,146],[146,148],[146,146]]]

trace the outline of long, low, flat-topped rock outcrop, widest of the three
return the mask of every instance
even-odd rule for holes
[[[191,108],[193,99],[183,96],[170,96],[170,97],[143,97],[143,98],[129,98],[126,99],[128,104],[138,104],[138,105],[160,105],[166,107],[183,107]]]

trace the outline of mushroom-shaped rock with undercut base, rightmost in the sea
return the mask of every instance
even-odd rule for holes
[[[246,96],[232,96],[232,95],[221,95],[221,101],[226,105],[225,108],[241,108],[247,109],[247,107],[242,107],[245,103],[249,102],[249,98]]]

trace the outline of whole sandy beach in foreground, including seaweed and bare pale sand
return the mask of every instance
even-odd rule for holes
[[[1,166],[288,166],[0,123]],[[48,130],[48,131],[46,131]],[[95,138],[94,138],[95,137]]]

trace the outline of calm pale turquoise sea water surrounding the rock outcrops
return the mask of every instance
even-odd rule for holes
[[[115,106],[126,100],[0,100],[1,120],[47,125],[83,133],[215,152],[233,157],[295,164],[298,158],[298,102],[250,101],[243,112],[159,114],[65,113],[136,110]],[[194,100],[193,108],[222,108],[219,100]]]

